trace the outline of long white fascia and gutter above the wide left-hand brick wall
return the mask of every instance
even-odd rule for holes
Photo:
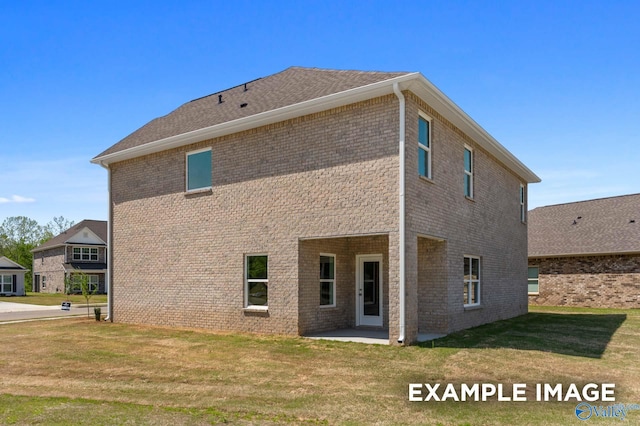
[[[400,77],[368,84],[366,86],[356,87],[354,89],[322,96],[297,104],[287,105],[282,108],[254,114],[249,117],[243,117],[237,120],[228,121],[226,123],[220,123],[214,126],[193,130],[191,132],[183,133],[180,135],[170,136],[168,138],[149,142],[144,145],[114,152],[113,154],[96,157],[91,160],[91,162],[94,164],[105,166],[116,161],[128,160],[131,158],[165,151],[167,149],[177,148],[207,139],[230,135],[244,130],[289,120],[291,118],[300,117],[303,115],[313,114],[315,112],[325,111],[330,108],[336,108],[374,97],[388,95],[393,93],[394,82],[408,81],[418,78],[419,76],[420,73],[406,74]]]

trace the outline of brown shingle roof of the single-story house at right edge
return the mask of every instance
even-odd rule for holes
[[[529,257],[640,253],[640,194],[529,212]]]

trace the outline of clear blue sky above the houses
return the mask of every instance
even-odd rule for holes
[[[543,182],[640,192],[637,1],[0,0],[0,222],[107,218],[89,160],[184,102],[289,66],[419,71]]]

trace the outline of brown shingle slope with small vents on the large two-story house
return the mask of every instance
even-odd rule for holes
[[[241,84],[187,102],[147,123],[96,158],[405,74],[408,73],[290,67],[246,83],[246,90],[245,84]]]

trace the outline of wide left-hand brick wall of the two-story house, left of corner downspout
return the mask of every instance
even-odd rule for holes
[[[113,164],[114,320],[297,334],[352,316],[299,321],[315,297],[298,290],[299,239],[397,228],[397,105],[389,95]],[[213,189],[185,194],[185,154],[205,147]],[[269,256],[268,312],[243,309],[251,253]]]

